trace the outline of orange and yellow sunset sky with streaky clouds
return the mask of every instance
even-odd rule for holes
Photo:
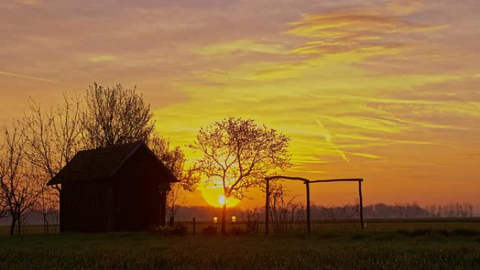
[[[479,205],[479,13],[477,0],[2,0],[0,121],[29,97],[121,83],[190,160],[201,126],[240,116],[291,137],[288,175],[363,177],[367,204]],[[356,186],[318,184],[312,201],[354,203]]]

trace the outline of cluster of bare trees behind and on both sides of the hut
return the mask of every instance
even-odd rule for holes
[[[77,151],[128,142],[146,142],[180,180],[168,192],[171,217],[175,215],[182,191],[196,188],[199,177],[185,169],[185,155],[179,147],[155,133],[150,106],[135,88],[121,85],[98,86],[84,96],[63,96],[62,102],[43,108],[35,100],[22,119],[4,126],[0,140],[0,218],[11,218],[11,231],[29,212],[41,212],[44,232],[48,216],[58,212],[60,185],[46,187]]]

